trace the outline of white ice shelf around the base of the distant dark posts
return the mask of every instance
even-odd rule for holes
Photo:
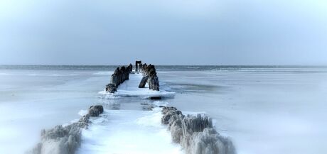
[[[141,74],[131,74],[129,75],[129,80],[119,85],[117,92],[112,94],[101,91],[99,94],[101,94],[104,99],[117,99],[117,97],[173,97],[175,95],[175,92],[151,90],[147,84],[145,88],[139,88],[139,82],[141,82],[141,79]]]

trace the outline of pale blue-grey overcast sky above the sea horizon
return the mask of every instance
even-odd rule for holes
[[[0,65],[327,65],[326,0],[0,0]]]

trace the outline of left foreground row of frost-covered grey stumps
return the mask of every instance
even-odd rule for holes
[[[80,146],[82,130],[90,123],[90,116],[103,113],[103,106],[90,106],[85,116],[68,126],[55,126],[41,131],[41,143],[38,143],[28,154],[73,154]]]

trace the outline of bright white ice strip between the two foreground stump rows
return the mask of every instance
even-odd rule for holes
[[[177,154],[181,147],[171,142],[161,125],[160,109],[154,111],[105,110],[82,132],[77,154]]]

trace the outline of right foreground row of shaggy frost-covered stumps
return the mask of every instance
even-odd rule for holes
[[[184,116],[175,107],[164,107],[161,123],[168,124],[173,142],[189,154],[234,154],[232,142],[215,131],[212,119],[205,114]]]

